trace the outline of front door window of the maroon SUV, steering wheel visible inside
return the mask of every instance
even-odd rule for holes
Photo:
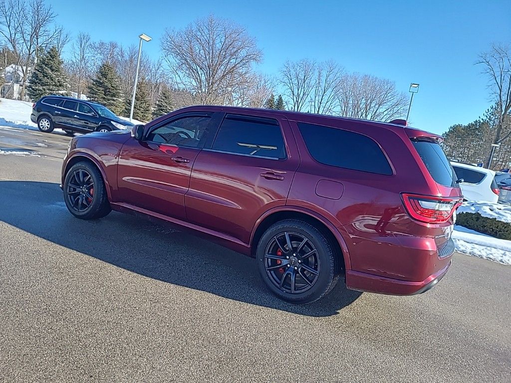
[[[189,148],[198,148],[204,142],[211,116],[185,116],[151,131],[148,141],[168,143]]]

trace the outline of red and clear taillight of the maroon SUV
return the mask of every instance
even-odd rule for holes
[[[426,223],[447,222],[461,199],[421,196],[403,193],[403,204],[411,218]]]

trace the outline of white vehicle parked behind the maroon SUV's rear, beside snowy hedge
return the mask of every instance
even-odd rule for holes
[[[488,201],[497,203],[499,186],[495,182],[495,172],[484,167],[451,161],[463,198],[467,201]]]

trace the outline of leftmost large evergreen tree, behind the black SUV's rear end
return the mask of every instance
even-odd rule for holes
[[[41,55],[27,87],[32,100],[37,101],[48,94],[65,94],[68,86],[63,61],[55,46]]]

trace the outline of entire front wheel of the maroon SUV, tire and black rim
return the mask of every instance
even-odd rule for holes
[[[63,189],[67,209],[76,218],[95,220],[111,211],[103,177],[90,162],[74,164],[65,176]]]

